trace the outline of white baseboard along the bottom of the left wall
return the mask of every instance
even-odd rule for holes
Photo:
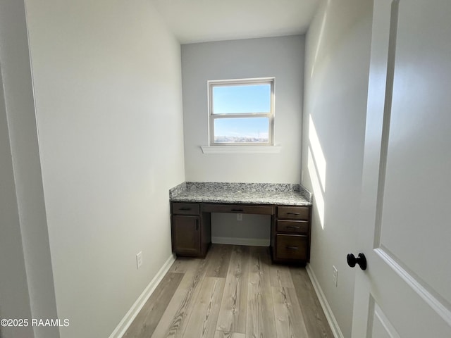
[[[175,256],[171,255],[168,260],[163,264],[158,273],[156,273],[155,277],[150,281],[147,287],[144,289],[142,294],[138,297],[135,303],[132,305],[128,313],[125,314],[124,318],[122,318],[121,323],[118,324],[116,329],[114,329],[113,333],[110,334],[109,338],[121,338],[125,331],[127,331],[128,327],[132,324],[133,320],[138,313],[140,313],[142,307],[146,303],[147,299],[152,295],[155,291],[155,288],[161,282],[164,275],[168,272],[169,268],[171,268],[172,263],[175,261]]]

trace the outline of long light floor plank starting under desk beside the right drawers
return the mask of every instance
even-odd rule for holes
[[[269,253],[267,248],[252,247],[250,255],[246,337],[274,338],[276,337],[276,323],[273,311]]]

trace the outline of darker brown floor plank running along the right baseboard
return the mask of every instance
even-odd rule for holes
[[[307,270],[305,268],[290,268],[290,272],[309,338],[333,338],[326,315],[321,308]]]

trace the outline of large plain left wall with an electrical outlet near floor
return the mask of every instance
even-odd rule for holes
[[[180,44],[149,1],[26,5],[61,337],[109,337],[171,256]]]

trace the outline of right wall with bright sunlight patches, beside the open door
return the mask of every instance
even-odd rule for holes
[[[310,268],[344,337],[351,337],[355,270],[346,255],[357,246],[371,15],[370,0],[324,0],[306,42],[302,184],[314,193]]]

